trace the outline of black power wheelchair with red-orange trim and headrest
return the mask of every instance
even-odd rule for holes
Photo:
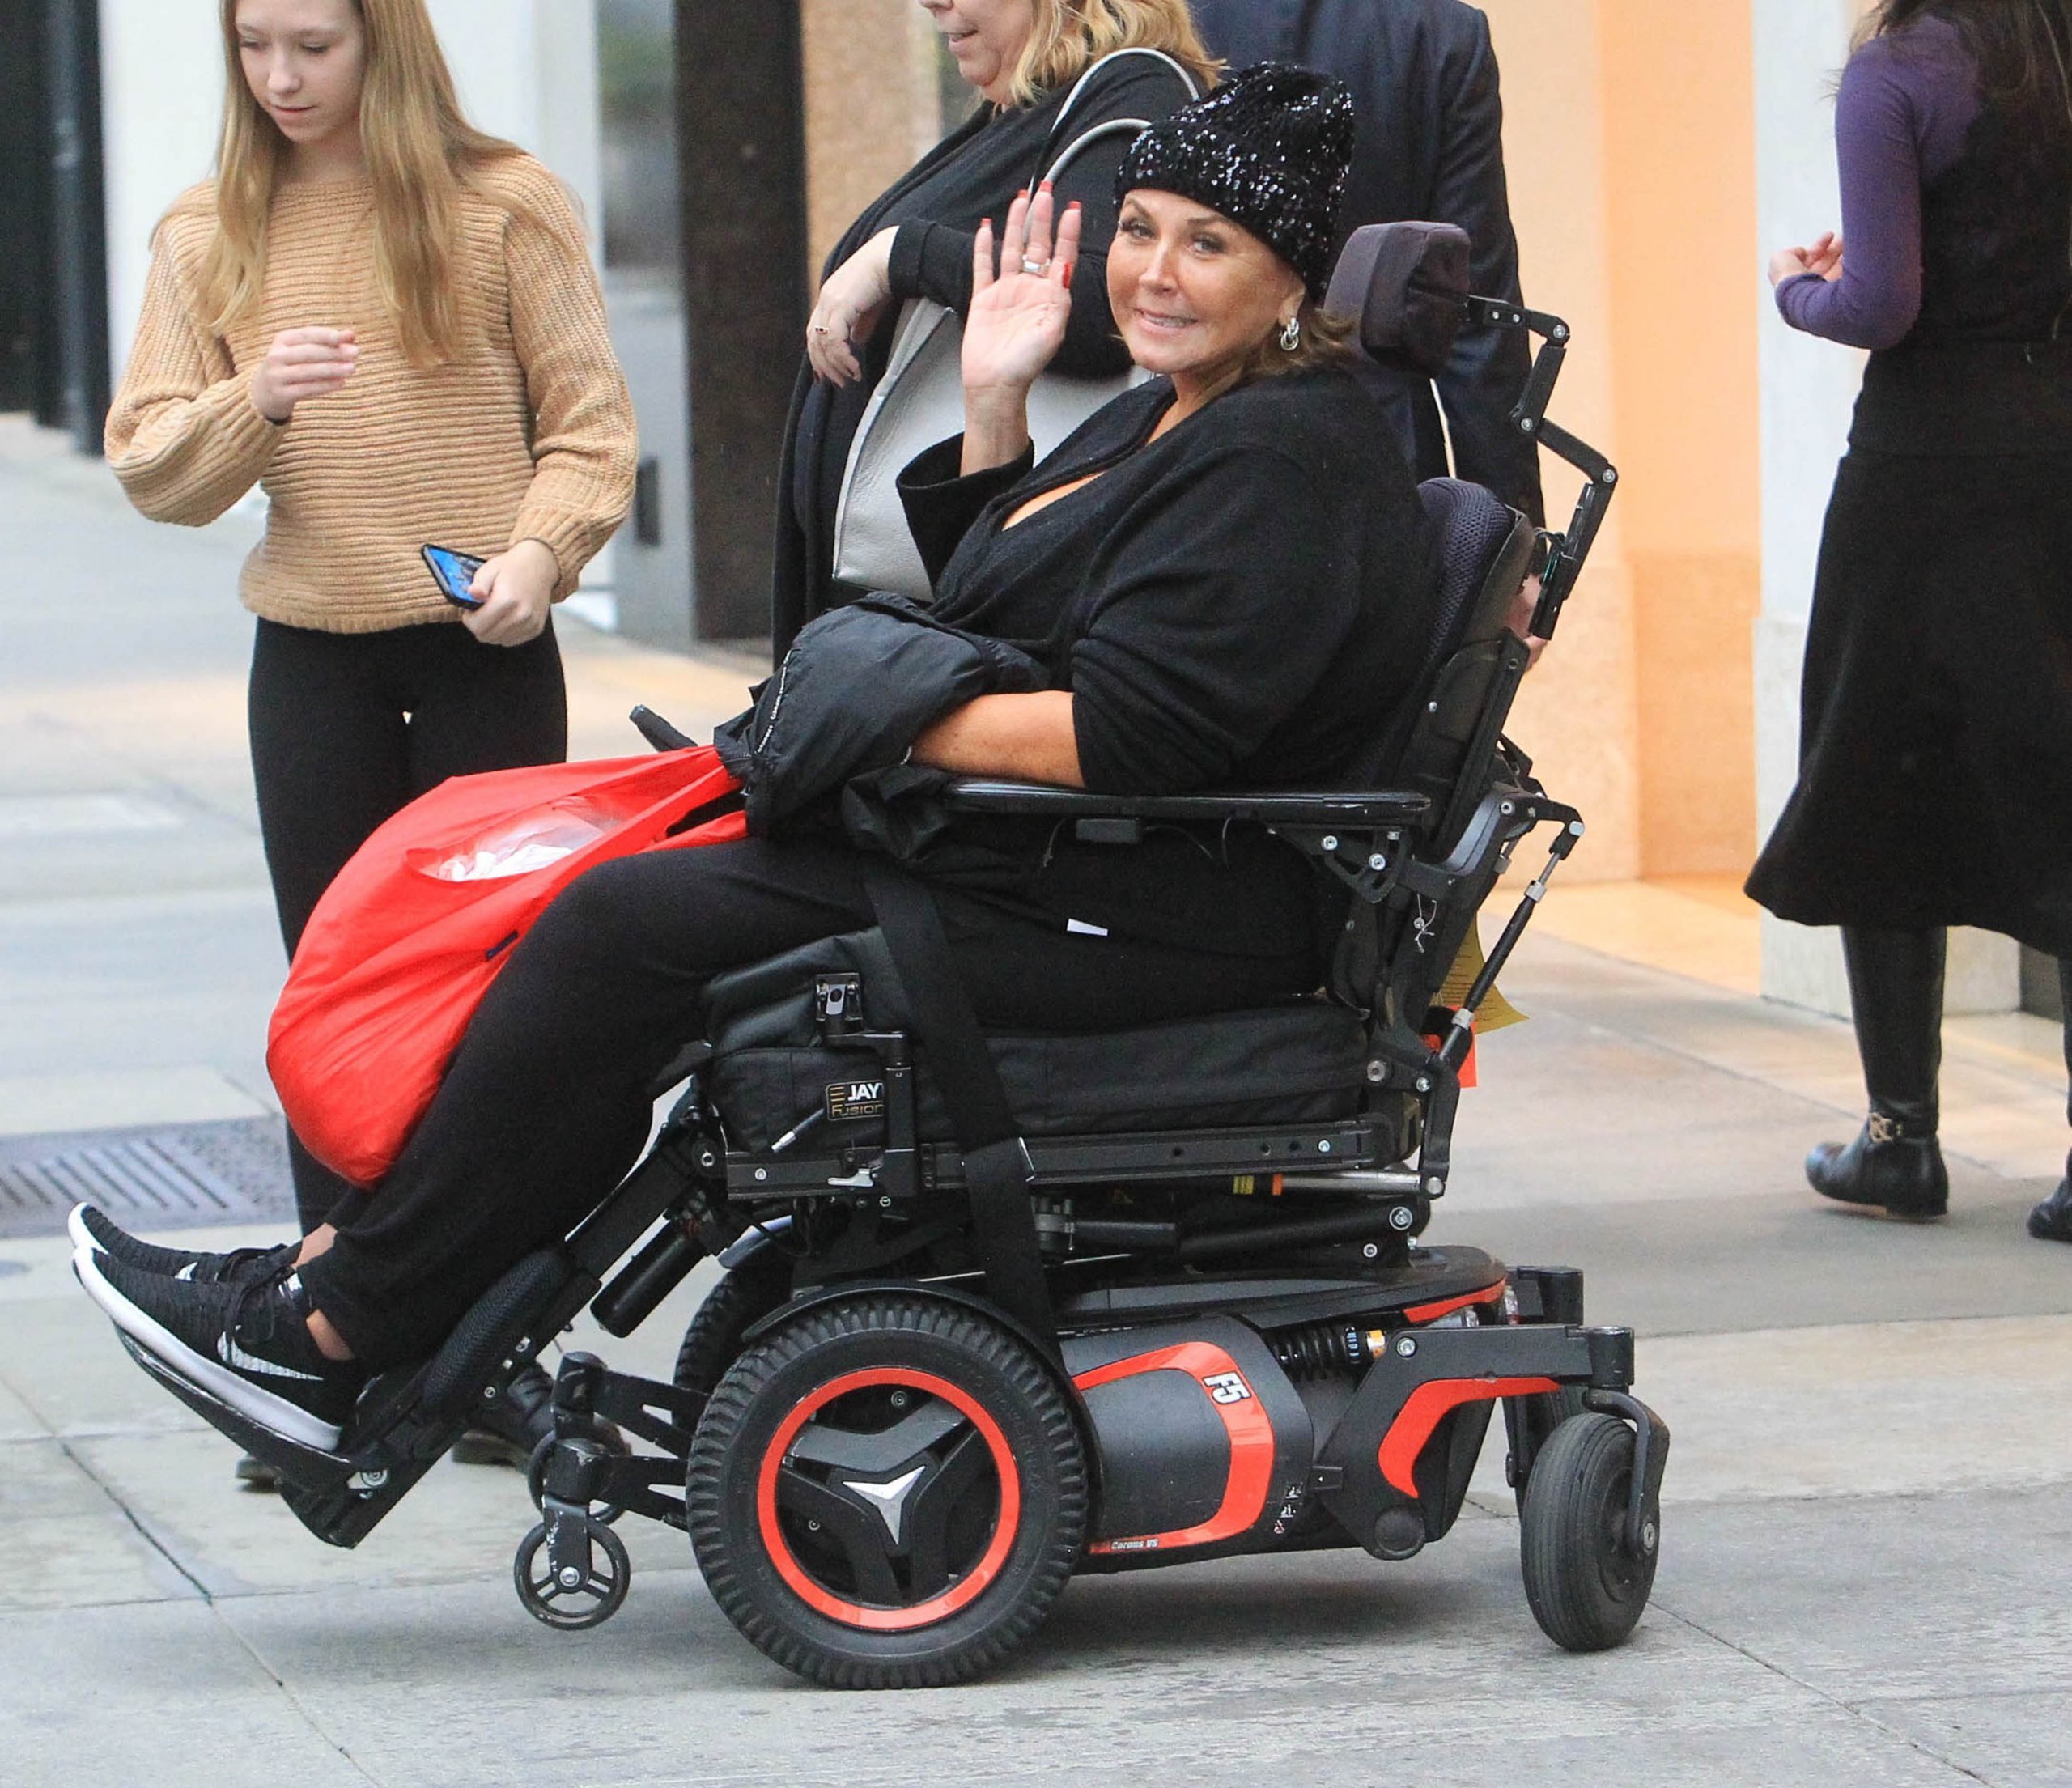
[[[876,928],[711,984],[709,1040],[671,1075],[644,1160],[433,1359],[377,1378],[336,1452],[255,1427],[126,1340],[280,1469],[313,1533],[356,1546],[584,1305],[626,1336],[717,1256],[673,1382],[584,1353],[559,1365],[530,1469],[541,1521],[514,1560],[549,1626],[622,1606],[613,1523],[640,1515],[688,1531],[721,1610],[800,1676],[955,1682],[1034,1633],[1077,1570],[1413,1556],[1461,1512],[1500,1405],[1533,1614],[1579,1651],[1631,1633],[1668,1457],[1631,1394],[1631,1330],[1585,1326],[1575,1270],[1419,1245],[1475,1013],[1583,835],[1502,733],[1527,667],[1504,617],[1539,572],[1535,632],[1552,634],[1616,472],[1546,416],[1566,325],[1473,298],[1461,232],[1359,232],[1332,307],[1370,354],[1413,365],[1467,325],[1537,334],[1517,427],[1585,474],[1562,535],[1479,487],[1423,489],[1442,626],[1421,709],[1376,740],[1390,787],[945,796],[1115,849],[1171,823],[1266,827],[1343,901],[1328,988],[1121,1036],[986,1036],[926,893],[885,874]],[[1442,1001],[1539,827],[1546,866]]]

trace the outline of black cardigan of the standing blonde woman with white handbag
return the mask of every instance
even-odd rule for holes
[[[891,259],[895,309],[864,348],[864,377],[835,390],[812,377],[810,363],[800,363],[777,481],[777,561],[771,586],[777,657],[783,657],[806,622],[843,599],[831,574],[835,508],[856,427],[891,354],[897,305],[934,298],[961,317],[972,307],[972,236],[982,220],[1005,222],[1015,193],[1040,180],[1092,126],[1117,118],[1164,118],[1187,102],[1179,75],[1152,56],[1125,56],[1102,68],[1071,116],[1059,124],[1067,93],[1069,89],[1013,110],[980,106],[883,193],[829,255],[823,280],[881,230],[899,230]],[[1080,269],[1071,282],[1071,325],[1057,358],[1065,373],[1104,375],[1129,365],[1109,313],[1115,174],[1127,149],[1129,137],[1121,133],[1102,139],[1071,164],[1057,189],[1059,209],[1073,199],[1084,207]]]

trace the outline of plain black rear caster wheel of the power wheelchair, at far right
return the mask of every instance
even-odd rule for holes
[[[1647,1608],[1662,1558],[1627,1546],[1633,1430],[1614,1415],[1571,1415],[1539,1450],[1519,1521],[1525,1599],[1539,1628],[1564,1651],[1610,1651]]]

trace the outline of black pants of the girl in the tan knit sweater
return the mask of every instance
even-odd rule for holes
[[[332,878],[385,818],[448,777],[568,756],[568,694],[549,626],[485,646],[460,626],[321,634],[259,622],[249,694],[259,833],[294,957]],[[288,1135],[303,1231],[352,1187]]]

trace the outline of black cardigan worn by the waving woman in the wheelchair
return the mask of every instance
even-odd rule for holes
[[[1092,789],[1343,785],[1415,698],[1434,628],[1436,543],[1403,456],[1351,373],[1262,379],[1150,441],[1171,402],[1154,379],[1034,470],[1024,454],[961,479],[961,441],[922,454],[901,497],[934,615],[1071,690]],[[990,843],[1038,860],[1019,893],[1042,910],[1133,936],[1264,955],[1316,920],[1310,872],[1264,835]]]

